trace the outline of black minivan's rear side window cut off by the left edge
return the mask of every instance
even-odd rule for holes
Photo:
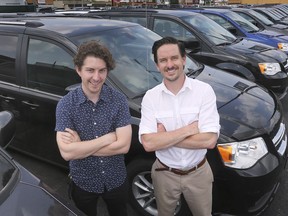
[[[18,37],[0,35],[0,80],[16,83],[16,49]]]

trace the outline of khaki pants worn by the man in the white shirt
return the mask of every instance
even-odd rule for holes
[[[152,181],[158,216],[173,216],[181,194],[193,216],[211,216],[213,173],[206,161],[199,169],[188,175],[170,171],[155,171],[163,165],[156,160],[152,166]]]

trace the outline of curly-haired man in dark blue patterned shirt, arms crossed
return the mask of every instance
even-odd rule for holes
[[[124,154],[131,143],[131,116],[126,97],[105,84],[114,59],[90,41],[79,47],[74,64],[81,86],[59,101],[55,128],[60,153],[69,161],[71,197],[88,216],[97,215],[99,197],[110,216],[127,216]]]

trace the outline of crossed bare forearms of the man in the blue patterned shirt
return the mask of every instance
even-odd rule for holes
[[[81,141],[78,133],[69,128],[58,131],[56,141],[64,160],[82,159],[88,156],[111,156],[125,154],[131,145],[131,125],[117,128],[115,132]]]

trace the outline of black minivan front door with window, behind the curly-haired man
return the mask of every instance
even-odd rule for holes
[[[21,55],[20,106],[27,139],[13,147],[42,160],[67,167],[56,143],[55,109],[66,87],[80,83],[73,51],[54,40],[25,36]]]

